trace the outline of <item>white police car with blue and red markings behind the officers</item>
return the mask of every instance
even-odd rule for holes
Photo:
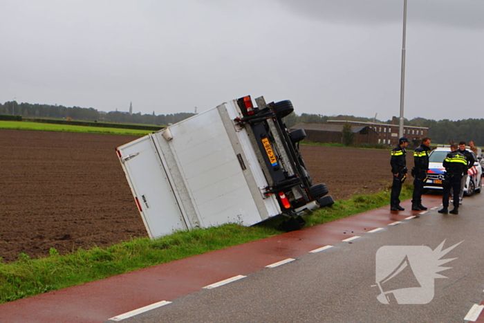
[[[469,150],[469,147],[466,149],[474,155],[474,159],[477,160],[476,155]],[[444,173],[445,168],[443,166],[443,161],[447,154],[450,153],[450,147],[437,147],[436,149],[432,150],[429,155],[429,171],[427,172],[427,182],[425,182],[424,188],[433,189],[433,190],[442,190],[443,189],[443,181],[444,181]],[[482,166],[476,161],[474,166],[472,166],[468,171],[467,174],[467,182],[464,186],[464,195],[471,196],[475,192],[481,192],[481,185],[482,185],[482,174],[483,168]]]

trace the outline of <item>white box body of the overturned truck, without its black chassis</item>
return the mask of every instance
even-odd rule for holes
[[[281,214],[236,100],[118,147],[149,236]]]

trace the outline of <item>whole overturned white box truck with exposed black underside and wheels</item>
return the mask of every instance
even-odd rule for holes
[[[334,203],[299,152],[306,133],[283,123],[292,103],[255,102],[223,103],[116,149],[151,239],[279,214],[297,230],[304,212]]]

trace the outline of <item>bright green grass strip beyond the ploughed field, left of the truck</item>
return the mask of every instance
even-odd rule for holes
[[[153,132],[149,130],[85,127],[85,126],[73,126],[70,124],[39,123],[39,122],[28,122],[28,121],[0,121],[0,129],[104,133],[104,134],[129,135],[129,136],[145,136],[146,134]]]

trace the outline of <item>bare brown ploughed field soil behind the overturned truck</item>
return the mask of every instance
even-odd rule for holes
[[[115,147],[136,139],[0,129],[0,257],[46,257],[147,237]],[[384,189],[389,151],[301,146],[315,183],[337,199]],[[410,164],[409,164],[410,165]]]

